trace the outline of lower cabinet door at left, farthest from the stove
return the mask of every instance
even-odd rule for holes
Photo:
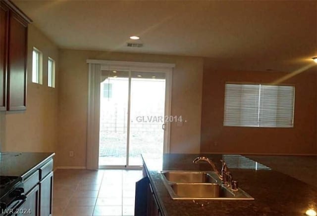
[[[40,215],[51,216],[53,204],[53,171],[40,181]]]

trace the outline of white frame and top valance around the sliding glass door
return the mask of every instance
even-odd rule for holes
[[[89,64],[89,85],[88,85],[88,121],[87,121],[87,154],[86,168],[90,170],[101,169],[140,169],[140,166],[99,166],[99,133],[100,133],[100,81],[102,70],[121,70],[129,72],[129,91],[131,85],[131,71],[138,72],[161,72],[165,73],[165,116],[171,115],[171,90],[172,71],[175,64],[150,63],[132,61],[109,61],[87,59]],[[99,100],[99,101],[98,101]],[[130,93],[129,101],[130,103]],[[129,106],[130,108],[130,106]],[[170,149],[170,123],[165,123],[163,153],[169,153]],[[129,135],[129,134],[127,134]],[[129,137],[127,138],[129,140]],[[129,143],[127,143],[127,154]],[[128,160],[128,157],[127,157]]]

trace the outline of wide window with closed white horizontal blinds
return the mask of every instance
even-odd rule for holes
[[[226,84],[224,126],[292,128],[294,86]]]

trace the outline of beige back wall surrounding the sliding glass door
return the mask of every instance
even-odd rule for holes
[[[87,59],[175,63],[171,114],[182,115],[187,123],[172,124],[170,151],[200,151],[203,58],[60,49],[57,166],[86,165]]]

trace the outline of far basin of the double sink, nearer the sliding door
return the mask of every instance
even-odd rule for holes
[[[178,183],[216,183],[217,180],[209,173],[165,171],[161,172],[164,178],[170,182]]]

